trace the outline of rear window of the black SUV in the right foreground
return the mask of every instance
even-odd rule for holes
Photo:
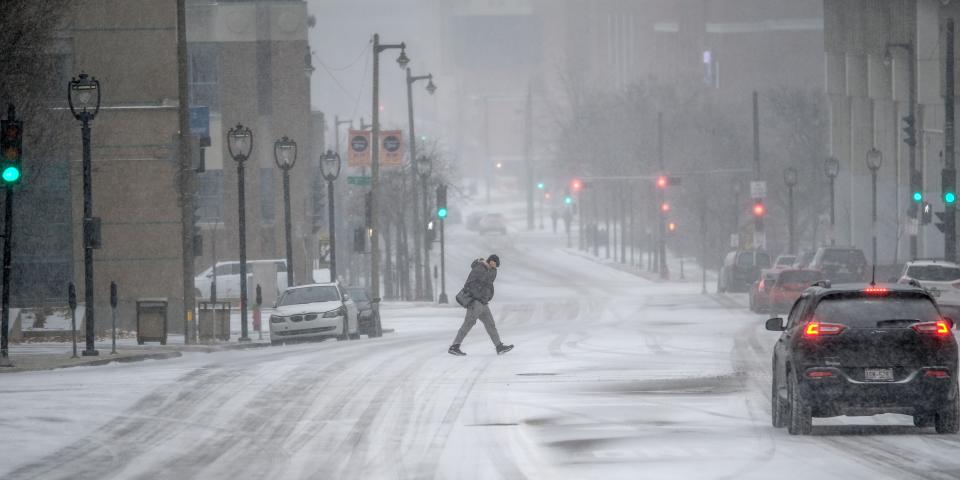
[[[915,295],[827,297],[817,304],[813,316],[821,322],[852,328],[876,328],[878,322],[885,320],[935,322],[940,319],[933,302]]]

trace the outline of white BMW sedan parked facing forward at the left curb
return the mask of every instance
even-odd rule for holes
[[[337,283],[291,287],[270,315],[270,343],[294,339],[360,338],[357,304]]]

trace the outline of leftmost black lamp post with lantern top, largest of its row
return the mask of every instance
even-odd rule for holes
[[[70,80],[67,87],[67,102],[70,104],[70,113],[80,120],[80,133],[83,138],[83,293],[84,293],[84,322],[86,323],[86,349],[84,356],[96,356],[95,317],[93,312],[93,249],[94,245],[93,218],[93,185],[92,159],[90,157],[90,122],[100,111],[100,82],[96,78],[81,73]]]

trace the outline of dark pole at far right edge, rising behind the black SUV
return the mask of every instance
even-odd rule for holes
[[[947,19],[947,38],[946,38],[946,68],[944,68],[944,122],[943,122],[943,172],[941,176],[941,187],[944,195],[944,215],[943,215],[943,252],[948,262],[957,261],[957,167],[954,156],[954,23],[952,18]],[[948,199],[952,195],[953,201]]]

